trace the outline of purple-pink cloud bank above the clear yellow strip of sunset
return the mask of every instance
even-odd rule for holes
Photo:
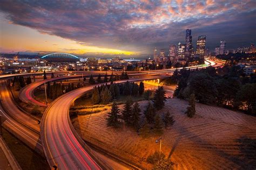
[[[255,40],[255,1],[14,1],[0,10],[12,24],[77,41],[79,44],[150,54],[153,47],[207,35],[207,46],[220,39],[228,47]]]

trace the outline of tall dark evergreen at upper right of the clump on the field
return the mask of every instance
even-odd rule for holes
[[[157,110],[160,110],[164,107],[164,102],[165,100],[165,90],[162,86],[158,86],[158,88],[156,89],[155,93],[154,93],[154,98],[153,98],[153,103],[154,103],[154,107]]]

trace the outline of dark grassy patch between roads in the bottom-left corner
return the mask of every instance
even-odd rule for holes
[[[3,129],[3,139],[22,169],[50,169],[45,158],[35,151],[32,151],[28,146],[23,144],[22,141],[12,136],[12,134],[5,129]]]

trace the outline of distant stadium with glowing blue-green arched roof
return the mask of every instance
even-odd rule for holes
[[[52,53],[41,56],[41,60],[46,60],[48,62],[77,62],[80,58],[68,53]]]

